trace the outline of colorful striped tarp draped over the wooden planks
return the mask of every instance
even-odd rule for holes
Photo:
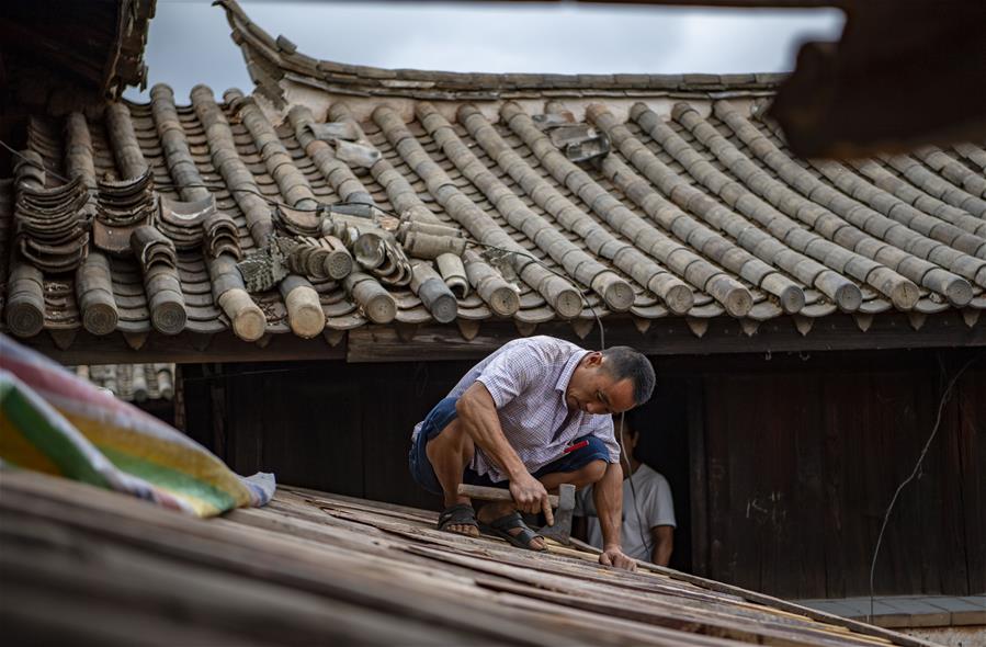
[[[199,517],[274,493],[274,475],[234,474],[183,433],[3,334],[0,459]]]

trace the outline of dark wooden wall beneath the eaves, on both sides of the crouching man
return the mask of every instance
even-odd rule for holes
[[[944,382],[983,351],[655,357],[638,456],[675,493],[671,566],[787,598],[865,594],[883,512]],[[186,431],[241,474],[437,509],[413,424],[471,362],[185,366]],[[897,503],[877,593],[986,590],[986,357]]]

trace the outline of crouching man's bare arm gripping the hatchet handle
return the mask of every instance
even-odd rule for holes
[[[473,383],[455,405],[458,419],[473,442],[496,463],[510,479],[510,493],[518,510],[536,514],[544,512],[548,525],[554,523],[547,490],[531,476],[520,456],[507,442],[492,396],[481,382]]]

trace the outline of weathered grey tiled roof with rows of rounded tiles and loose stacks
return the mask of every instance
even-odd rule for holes
[[[224,5],[235,38],[297,67]],[[35,115],[27,157],[45,172],[0,181],[0,241],[19,250],[0,282],[8,329],[63,345],[83,327],[136,344],[229,328],[336,342],[369,322],[457,320],[466,336],[495,318],[588,331],[599,315],[732,317],[749,333],[840,311],[863,330],[896,310],[972,326],[986,308],[983,143],[797,159],[753,76],[714,92],[654,81],[637,100],[632,79],[567,77],[569,97],[546,89],[555,77],[514,93],[513,75],[394,72],[432,79],[443,99],[427,101],[347,69],[363,95],[284,77],[283,110],[201,86],[179,106],[157,86],[150,104]],[[490,92],[453,91],[466,77]]]

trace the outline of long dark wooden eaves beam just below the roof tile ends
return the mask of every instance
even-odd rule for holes
[[[762,322],[752,336],[741,322],[729,317],[709,320],[702,338],[694,336],[683,318],[656,319],[644,332],[630,317],[604,320],[609,345],[630,345],[648,355],[717,355],[768,352],[819,352],[848,350],[888,350],[919,348],[986,347],[986,318],[968,326],[962,315],[947,310],[929,315],[920,330],[914,330],[904,313],[887,313],[873,318],[866,331],[860,330],[851,315],[831,315],[817,319],[802,336],[789,317]],[[565,321],[537,327],[539,334],[567,339],[596,349],[599,337],[579,339]],[[422,326],[413,339],[405,340],[390,326],[364,326],[345,333],[347,339],[330,345],[324,338],[301,339],[291,333],[274,334],[259,348],[237,339],[230,332],[213,336],[203,348],[201,334],[183,332],[174,337],[151,333],[139,350],[133,350],[122,334],[93,337],[79,332],[71,345],[59,349],[47,334],[21,343],[30,345],[64,364],[118,364],[133,362],[276,362],[293,360],[345,360],[359,362],[428,362],[478,360],[520,334],[511,321],[486,321],[476,337],[466,340],[454,324]],[[203,350],[196,350],[203,349]]]

